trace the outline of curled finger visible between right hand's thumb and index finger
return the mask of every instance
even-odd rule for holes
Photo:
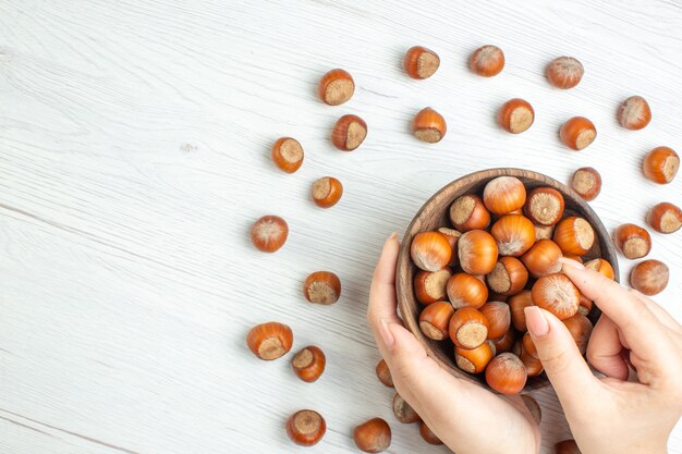
[[[606,315],[599,317],[587,344],[587,360],[607,377],[628,380],[628,364],[621,353],[618,327]]]

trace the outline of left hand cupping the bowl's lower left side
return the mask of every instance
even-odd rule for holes
[[[458,454],[538,453],[539,428],[519,396],[496,395],[454,378],[427,356],[402,326],[395,312],[399,248],[395,234],[383,245],[372,282],[367,320],[400,395]],[[492,430],[490,421],[496,421]]]

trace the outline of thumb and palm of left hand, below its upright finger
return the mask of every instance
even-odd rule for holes
[[[405,328],[389,323],[387,329],[394,341],[385,359],[395,390],[450,449],[463,453],[536,452],[539,430],[523,403],[501,400],[478,385],[454,378],[426,354]],[[492,415],[506,422],[498,427],[498,437],[472,430],[489,424]],[[499,440],[509,439],[523,445],[517,451],[500,445]]]

